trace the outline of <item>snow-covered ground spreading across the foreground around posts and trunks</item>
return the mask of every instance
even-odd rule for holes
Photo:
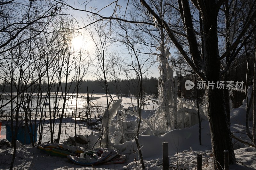
[[[101,98],[101,100],[104,100]],[[128,99],[127,99],[128,100]],[[104,102],[104,101],[98,101]],[[133,102],[135,104],[136,101]],[[131,106],[131,103],[123,100],[124,108]],[[142,117],[148,119],[154,114],[152,111],[152,105],[147,105],[148,110],[144,108]],[[150,107],[150,108],[149,108]],[[156,107],[156,106],[155,106]],[[233,109],[231,113],[231,131],[233,134],[246,141],[250,141],[245,133],[245,109],[239,107]],[[113,122],[113,127],[116,121]],[[126,124],[136,122],[136,117],[127,115]],[[48,122],[45,124],[43,142],[49,141]],[[167,133],[156,130],[150,130],[147,126],[142,127],[142,133],[140,134],[139,142],[145,162],[146,169],[162,169],[162,142],[169,143],[169,166],[178,169],[196,169],[196,157],[200,153],[203,155],[203,169],[212,169],[212,152],[211,152],[211,137],[209,122],[202,121],[202,145],[199,145],[198,137],[198,124],[187,129],[175,129]],[[56,124],[58,126],[58,123]],[[94,130],[94,134],[90,135],[91,131],[85,122],[78,122],[78,133],[80,135],[89,135],[89,146],[97,141],[100,132]],[[5,138],[4,122],[1,129],[1,139]],[[113,128],[112,127],[112,128]],[[65,119],[63,127],[63,135],[61,136],[61,142],[72,137],[74,135],[74,120],[71,118]],[[110,128],[111,131],[111,128]],[[57,132],[56,132],[57,134]],[[112,140],[115,140],[118,135],[113,133]],[[90,138],[91,137],[91,138]],[[96,138],[95,138],[96,137]],[[0,139],[0,140],[1,140]],[[132,139],[132,138],[131,138]],[[249,147],[233,139],[236,165],[230,167],[230,169],[255,169],[256,168],[256,150],[253,147]],[[37,144],[36,144],[37,145]],[[17,148],[16,159],[14,162],[15,169],[141,169],[140,161],[138,160],[138,153],[134,139],[126,141],[123,144],[114,144],[114,148],[123,154],[127,154],[127,160],[124,164],[112,164],[112,165],[98,165],[98,166],[79,166],[73,164],[66,158],[60,158],[56,156],[50,156],[36,147],[32,147],[31,144],[22,145]],[[1,147],[0,148],[0,169],[9,169],[12,159],[12,148]],[[135,159],[136,158],[136,159]]]

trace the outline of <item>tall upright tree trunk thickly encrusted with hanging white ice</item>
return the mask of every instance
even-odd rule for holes
[[[161,30],[163,34],[163,30]],[[162,36],[164,37],[164,36]],[[164,39],[157,48],[159,61],[159,84],[158,100],[159,107],[156,109],[155,122],[156,129],[168,130],[177,128],[177,81],[173,82],[173,70],[169,65],[168,59],[171,56],[169,48],[166,48]],[[177,74],[177,73],[176,73]],[[178,75],[177,75],[178,76]]]

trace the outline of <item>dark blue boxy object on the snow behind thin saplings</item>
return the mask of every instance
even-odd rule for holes
[[[15,123],[13,123],[15,124]],[[6,139],[9,142],[12,142],[12,129],[11,129],[11,124],[6,124]],[[17,137],[16,140],[20,141],[20,143],[22,144],[31,144],[31,140],[30,140],[30,135],[28,132],[33,134],[33,141],[37,141],[37,127],[38,124],[36,125],[36,134],[34,134],[35,132],[35,124],[32,124],[32,129],[30,127],[30,125],[28,125],[28,127],[26,127],[25,125],[20,125],[18,127],[18,133],[17,133]],[[29,131],[28,131],[29,130]],[[13,135],[15,134],[15,127],[13,127]]]

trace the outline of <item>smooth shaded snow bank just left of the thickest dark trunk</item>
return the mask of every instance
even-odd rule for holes
[[[202,145],[199,145],[198,137],[198,125],[192,126],[188,129],[175,129],[164,135],[142,135],[139,137],[139,142],[141,145],[143,158],[161,158],[162,143],[169,143],[169,155],[173,155],[177,152],[184,150],[190,150],[190,147],[196,150],[204,151],[206,148],[211,149],[211,137],[209,122],[202,122]],[[147,130],[148,131],[148,130]],[[148,133],[148,132],[147,132]],[[152,131],[154,133],[154,131]],[[137,150],[136,143],[134,139],[132,141],[127,141],[124,144],[115,144],[115,147],[119,152],[127,153],[131,157],[134,157],[132,151]]]

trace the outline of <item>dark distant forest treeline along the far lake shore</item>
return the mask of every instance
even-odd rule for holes
[[[61,83],[62,89],[65,88],[65,83]],[[14,85],[15,86],[15,85]],[[17,85],[18,86],[18,85]],[[16,86],[16,87],[17,87]],[[55,92],[55,89],[57,89],[57,83],[51,84],[51,92]],[[158,96],[158,79],[151,77],[151,78],[143,78],[143,89],[142,91],[146,94],[150,95],[156,95]],[[33,85],[31,88],[29,88],[30,92],[38,92],[39,84]],[[103,87],[105,87],[103,81],[100,80],[83,80],[79,83],[79,93],[86,93],[88,87],[89,93],[105,93],[105,90]],[[11,92],[11,86],[8,84],[1,84],[0,85],[1,91],[4,89],[4,92]],[[68,82],[68,88],[69,93],[76,92],[76,82]],[[41,91],[47,92],[48,86],[47,82],[44,81],[41,84]],[[108,81],[108,91],[110,93],[116,94],[118,92],[119,95],[130,95],[130,92],[132,95],[136,95],[139,91],[138,87],[138,80],[132,79],[132,80],[111,80]],[[13,88],[13,92],[17,92],[16,88]],[[59,90],[61,92],[61,88]]]

